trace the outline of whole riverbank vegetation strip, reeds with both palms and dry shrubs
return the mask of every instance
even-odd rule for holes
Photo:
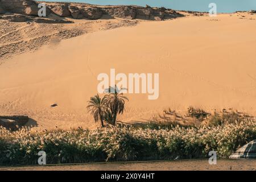
[[[0,165],[38,164],[38,152],[46,152],[47,164],[86,163],[127,160],[174,160],[208,158],[216,151],[218,158],[228,158],[243,144],[256,138],[255,117],[223,109],[207,113],[188,107],[186,114],[168,109],[142,125],[117,120],[128,99],[117,87],[110,87],[104,97],[91,97],[88,111],[96,130],[33,132],[0,127]]]

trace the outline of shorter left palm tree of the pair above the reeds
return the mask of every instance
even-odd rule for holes
[[[101,127],[104,127],[103,120],[106,112],[105,97],[101,99],[97,94],[94,97],[90,97],[88,104],[87,109],[93,115],[94,121],[97,122],[100,119]]]

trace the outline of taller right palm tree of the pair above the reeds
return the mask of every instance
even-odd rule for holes
[[[115,88],[109,86],[109,94],[104,96],[105,105],[109,108],[107,115],[108,118],[112,120],[109,121],[112,125],[115,125],[115,122],[117,121],[117,114],[123,114],[123,111],[125,110],[125,100],[128,101],[128,98],[123,96],[123,93],[121,93],[122,90],[123,89],[118,90],[116,85]],[[112,117],[109,117],[110,114],[112,114]]]

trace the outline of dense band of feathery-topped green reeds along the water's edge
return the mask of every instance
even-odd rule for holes
[[[1,127],[0,165],[38,164],[39,151],[46,152],[47,164],[198,159],[208,158],[212,150],[217,151],[218,158],[228,158],[256,138],[253,119],[213,123],[157,129],[118,124],[90,131],[79,128],[44,133],[32,133],[26,128],[11,132]]]

